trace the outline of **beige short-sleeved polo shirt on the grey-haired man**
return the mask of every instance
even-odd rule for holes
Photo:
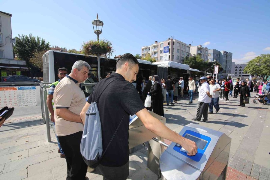
[[[68,75],[58,83],[53,93],[55,109],[68,109],[72,113],[80,115],[86,99],[79,84]],[[67,121],[56,116],[56,113],[54,113],[54,118],[57,136],[67,136],[83,131],[82,123]]]

